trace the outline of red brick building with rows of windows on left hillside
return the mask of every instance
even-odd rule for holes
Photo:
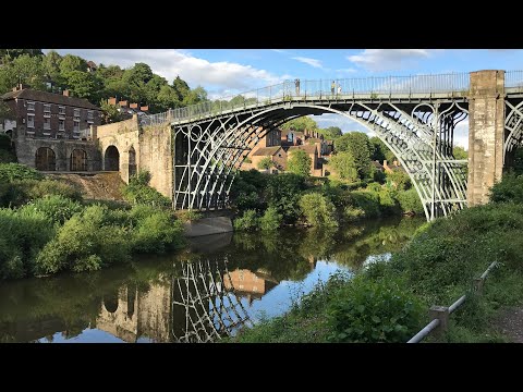
[[[27,137],[80,139],[100,125],[101,110],[86,99],[38,91],[23,86],[1,96],[14,111],[16,131]]]

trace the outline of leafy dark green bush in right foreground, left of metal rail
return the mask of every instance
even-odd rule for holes
[[[329,305],[330,341],[404,343],[422,321],[422,303],[399,280],[353,278]]]

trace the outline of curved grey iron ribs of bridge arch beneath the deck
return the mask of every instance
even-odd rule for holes
[[[438,109],[440,108],[434,105],[421,103],[413,106],[409,114],[391,102],[353,102],[348,110],[339,110],[331,105],[293,103],[289,107],[283,103],[243,119],[215,119],[205,130],[202,124],[187,126],[184,130],[186,135],[192,137],[198,147],[190,151],[194,168],[188,173],[192,189],[185,193],[182,205],[185,205],[185,208],[202,208],[205,198],[203,196],[208,193],[211,196],[214,193],[223,196],[223,189],[227,197],[233,181],[231,171],[243,157],[242,147],[247,148],[253,134],[264,136],[293,118],[331,112],[356,121],[375,132],[394,152],[422,199],[427,219],[434,218],[435,209],[447,215],[453,208],[463,208],[466,203],[466,180],[463,173],[459,172],[460,168],[452,162],[452,145],[449,144],[453,127],[466,117],[466,110],[455,102],[441,106],[440,111]],[[192,130],[196,127],[198,132],[193,133]],[[438,134],[443,135],[443,138]],[[434,145],[437,145],[436,148]],[[230,146],[236,150],[228,150]],[[224,180],[218,181],[220,177]]]

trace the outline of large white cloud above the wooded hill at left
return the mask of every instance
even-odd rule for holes
[[[76,54],[97,64],[118,64],[122,68],[144,62],[169,83],[180,75],[191,87],[200,85],[215,95],[222,95],[226,90],[238,94],[290,78],[289,75],[275,75],[251,65],[228,61],[210,62],[178,49],[57,49],[57,51],[62,56]]]

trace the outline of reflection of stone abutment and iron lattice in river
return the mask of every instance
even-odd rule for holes
[[[96,328],[125,342],[215,342],[252,326],[242,299],[250,305],[278,284],[264,271],[229,271],[227,257],[173,268],[145,292],[122,285],[118,297],[104,296]]]

